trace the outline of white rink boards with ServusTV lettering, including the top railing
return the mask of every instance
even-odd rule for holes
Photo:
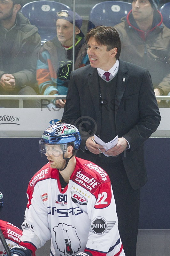
[[[157,96],[157,100],[170,100],[170,96]],[[19,100],[19,108],[0,108],[0,137],[41,137],[42,132],[50,124],[62,119],[64,108],[55,108],[50,104],[53,99],[66,99],[66,95],[42,96],[19,95],[0,96],[0,100]],[[47,107],[23,108],[23,100],[49,100]],[[170,138],[170,108],[159,108],[162,117],[156,132],[151,137]]]

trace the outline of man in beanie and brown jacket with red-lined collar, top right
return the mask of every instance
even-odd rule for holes
[[[120,59],[147,68],[157,96],[170,92],[170,29],[157,10],[158,0],[134,0],[132,10],[115,25],[121,40]],[[159,107],[167,107],[158,100]]]

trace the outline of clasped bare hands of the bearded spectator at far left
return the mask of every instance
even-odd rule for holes
[[[4,74],[1,76],[0,86],[4,91],[12,92],[15,88],[15,78],[12,74]]]

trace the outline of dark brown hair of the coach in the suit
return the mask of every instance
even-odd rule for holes
[[[112,50],[114,47],[116,47],[118,50],[116,53],[116,59],[119,59],[121,43],[119,34],[115,28],[106,27],[102,25],[90,29],[89,32],[86,34],[87,43],[89,42],[91,36],[94,37],[98,45],[106,45],[108,52]]]

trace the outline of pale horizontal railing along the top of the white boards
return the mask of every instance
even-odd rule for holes
[[[65,100],[66,95],[0,95],[0,100],[19,100],[19,108],[23,108],[23,100]],[[157,100],[170,100],[170,96],[156,96]]]

